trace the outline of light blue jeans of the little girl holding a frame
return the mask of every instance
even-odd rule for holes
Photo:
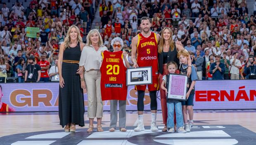
[[[174,107],[175,107],[175,113],[176,113],[176,122],[177,122],[177,129],[180,127],[183,127],[184,121],[183,121],[183,114],[182,114],[182,106],[181,102],[177,103],[167,103],[167,128],[174,128]]]

